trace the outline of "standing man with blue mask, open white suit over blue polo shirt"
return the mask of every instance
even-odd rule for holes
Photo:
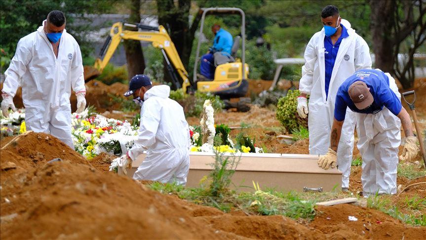
[[[340,17],[337,7],[324,7],[321,21],[324,28],[313,35],[305,50],[301,95],[297,98],[299,116],[308,116],[309,152],[315,155],[327,153],[337,89],[356,70],[371,68],[367,43]],[[309,107],[307,95],[310,95]],[[348,109],[337,151],[343,191],[349,188],[354,128],[355,115]]]

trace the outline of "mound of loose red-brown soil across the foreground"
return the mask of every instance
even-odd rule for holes
[[[46,163],[56,157],[63,161]],[[102,163],[101,158],[91,163]],[[5,167],[10,162],[15,166]],[[97,170],[42,133],[2,149],[1,169],[1,239],[421,239],[426,234],[425,228],[352,205],[318,207],[310,224],[223,213]],[[348,222],[349,215],[358,222]],[[383,225],[369,225],[378,221]]]

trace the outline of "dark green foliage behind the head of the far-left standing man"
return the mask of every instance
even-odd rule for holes
[[[83,59],[90,55],[93,48],[87,35],[94,27],[84,16],[86,13],[110,13],[116,5],[116,0],[1,0],[0,1],[0,48],[5,49],[13,56],[18,41],[26,35],[35,32],[47,14],[60,9],[67,18],[67,32],[73,35],[80,45]],[[76,24],[75,19],[80,22]],[[6,70],[7,64],[2,67]]]

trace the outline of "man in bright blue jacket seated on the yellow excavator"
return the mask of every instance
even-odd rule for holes
[[[201,56],[200,73],[209,80],[214,79],[214,72],[216,67],[214,66],[215,52],[227,52],[231,54],[232,49],[232,35],[224,29],[221,29],[219,24],[212,26],[212,32],[215,35],[213,40],[213,46],[211,46],[208,52]]]

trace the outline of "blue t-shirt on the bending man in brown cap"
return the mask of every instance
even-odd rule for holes
[[[370,107],[362,110],[355,107],[348,93],[349,86],[358,80],[367,84],[374,99]],[[361,69],[356,71],[340,85],[334,105],[334,118],[338,121],[345,120],[347,107],[355,113],[376,114],[382,111],[384,106],[395,116],[397,116],[402,109],[401,101],[389,87],[389,79],[382,71]]]

